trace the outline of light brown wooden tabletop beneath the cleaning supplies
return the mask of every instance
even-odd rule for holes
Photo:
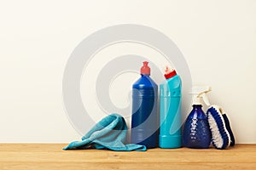
[[[61,150],[67,144],[0,144],[0,169],[256,169],[256,144],[229,150]]]

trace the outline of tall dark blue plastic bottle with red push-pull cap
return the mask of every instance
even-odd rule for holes
[[[149,76],[148,61],[144,61],[141,77],[132,86],[131,143],[154,148],[158,139],[158,88]]]

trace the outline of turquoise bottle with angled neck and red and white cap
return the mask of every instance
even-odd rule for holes
[[[160,148],[180,148],[182,81],[166,66],[166,82],[160,84]]]

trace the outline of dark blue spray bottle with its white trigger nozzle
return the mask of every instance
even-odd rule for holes
[[[202,100],[207,104],[207,92],[210,87],[193,87],[193,109],[185,122],[183,129],[183,144],[188,148],[207,149],[211,144],[212,134],[210,131],[207,115],[202,110]]]

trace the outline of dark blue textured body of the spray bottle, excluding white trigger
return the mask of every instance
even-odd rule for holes
[[[193,105],[183,131],[183,144],[188,148],[206,149],[211,144],[207,115],[202,111],[202,105]]]

